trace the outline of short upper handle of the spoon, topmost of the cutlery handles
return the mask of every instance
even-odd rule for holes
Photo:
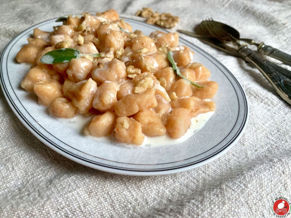
[[[258,51],[264,55],[268,55],[272,58],[276,58],[277,60],[281,60],[284,64],[291,66],[291,55],[287,54],[279,49],[275,49],[272,46],[265,45],[264,42],[261,42],[258,46]]]

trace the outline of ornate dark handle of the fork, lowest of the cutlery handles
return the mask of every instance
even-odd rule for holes
[[[291,72],[258,56],[246,44],[239,47],[239,53],[267,78],[276,92],[291,104]]]

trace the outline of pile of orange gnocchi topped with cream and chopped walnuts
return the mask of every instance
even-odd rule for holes
[[[35,28],[27,40],[16,57],[32,64],[21,87],[34,92],[54,117],[92,116],[85,135],[113,133],[117,141],[136,145],[145,136],[168,134],[177,139],[191,118],[215,110],[210,99],[218,85],[208,81],[206,67],[191,63],[194,52],[178,45],[178,33],[155,31],[146,36],[110,9],[96,15],[68,15],[54,31]],[[62,63],[40,61],[45,53],[65,48],[87,55]],[[204,88],[175,74],[167,59],[169,51],[181,74]]]

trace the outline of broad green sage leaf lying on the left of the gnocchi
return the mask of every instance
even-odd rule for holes
[[[45,53],[40,62],[44,64],[67,63],[73,58],[80,58],[80,51],[78,49],[63,48]]]

